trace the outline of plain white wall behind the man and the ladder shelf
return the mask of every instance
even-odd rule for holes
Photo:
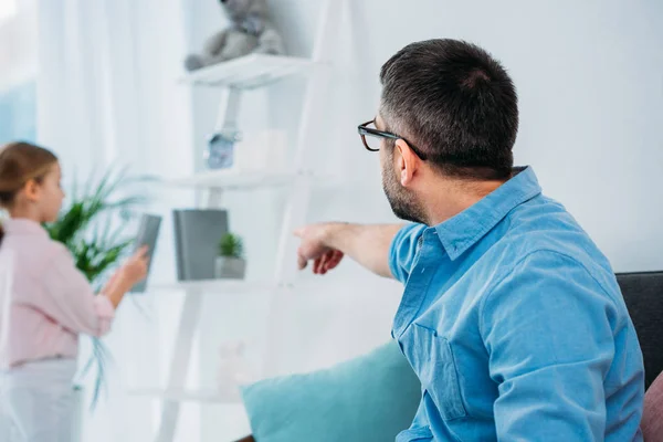
[[[197,48],[222,23],[215,1],[194,2],[190,41]],[[322,1],[272,0],[274,17],[295,55],[308,55]],[[340,2],[336,2],[340,3]],[[617,271],[663,269],[663,2],[585,0],[350,0],[324,128],[312,146],[320,171],[341,172],[344,188],[314,196],[311,221],[391,221],[376,155],[364,150],[357,124],[379,99],[380,65],[403,45],[431,38],[465,39],[491,51],[513,75],[520,97],[518,164],[533,165],[544,191],[561,202],[608,254]],[[294,134],[299,84],[275,85],[273,107],[250,119],[285,125]],[[255,94],[255,104],[265,97]],[[213,125],[215,101],[198,95],[197,139]],[[200,150],[201,151],[201,150]],[[252,208],[246,209],[246,201]],[[252,277],[267,275],[275,248],[277,192],[230,197],[231,222],[246,236]],[[294,265],[294,256],[293,256]],[[309,281],[283,299],[286,338],[274,371],[312,369],[389,338],[400,287],[352,263]],[[250,318],[246,318],[250,320]],[[221,337],[219,337],[222,339]],[[213,364],[213,359],[208,359]]]

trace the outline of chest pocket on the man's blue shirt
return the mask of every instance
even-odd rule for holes
[[[414,324],[412,344],[418,361],[417,372],[442,419],[449,421],[467,415],[451,344],[433,329]]]

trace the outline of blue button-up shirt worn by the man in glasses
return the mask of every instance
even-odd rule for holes
[[[606,256],[532,168],[390,251],[422,383],[397,441],[641,441],[642,354]]]

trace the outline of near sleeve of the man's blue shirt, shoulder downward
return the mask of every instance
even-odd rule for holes
[[[501,441],[602,441],[614,301],[573,260],[535,252],[485,298],[482,335]]]

